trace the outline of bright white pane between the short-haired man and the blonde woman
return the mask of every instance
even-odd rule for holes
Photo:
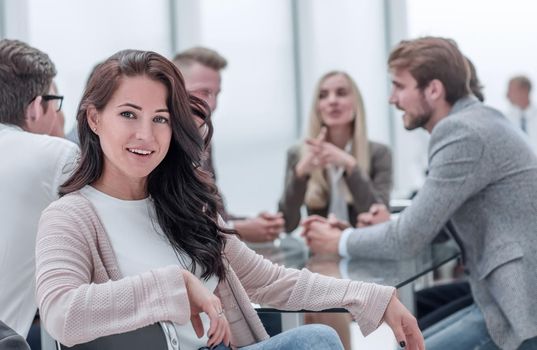
[[[191,1],[181,3],[191,6]],[[213,116],[218,185],[234,214],[275,211],[285,150],[294,139],[289,2],[198,4],[199,41],[192,44],[213,48],[228,60]]]

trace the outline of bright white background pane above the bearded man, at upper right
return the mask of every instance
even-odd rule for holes
[[[526,74],[537,85],[537,2],[407,0],[409,36],[455,39],[475,64],[486,102],[508,107],[507,82]]]

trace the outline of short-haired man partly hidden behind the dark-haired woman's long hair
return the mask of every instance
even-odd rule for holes
[[[173,62],[181,70],[188,92],[207,102],[211,112],[214,112],[221,89],[220,71],[227,66],[226,59],[214,50],[194,47],[177,54]],[[215,176],[211,148],[203,167]],[[224,208],[222,214],[224,219],[239,232],[241,238],[248,242],[272,241],[284,230],[281,213],[263,212],[254,218],[239,218],[229,215]]]

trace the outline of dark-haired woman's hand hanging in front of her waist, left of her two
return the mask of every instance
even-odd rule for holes
[[[192,273],[184,270],[183,277],[185,280],[188,300],[190,302],[190,322],[198,338],[204,333],[203,323],[201,322],[200,313],[205,312],[209,316],[211,323],[207,331],[207,346],[212,347],[220,343],[226,345],[230,342],[231,331],[229,323],[224,315],[220,299],[211,293],[203,283]]]

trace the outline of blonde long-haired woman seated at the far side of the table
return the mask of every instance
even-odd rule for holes
[[[288,152],[285,189],[279,203],[286,231],[308,215],[355,226],[374,203],[388,205],[392,187],[390,150],[367,139],[365,111],[356,83],[345,72],[329,72],[317,84],[305,142]]]

